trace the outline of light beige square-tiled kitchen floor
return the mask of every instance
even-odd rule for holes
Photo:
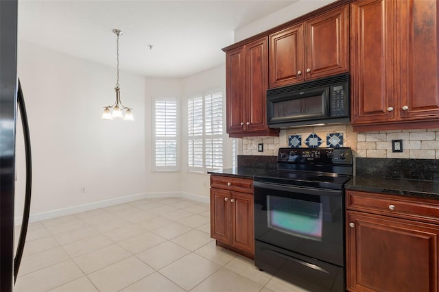
[[[14,292],[305,291],[215,246],[209,220],[155,198],[30,223]]]

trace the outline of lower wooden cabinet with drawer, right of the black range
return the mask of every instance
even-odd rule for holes
[[[439,204],[355,191],[346,199],[348,291],[438,291]]]

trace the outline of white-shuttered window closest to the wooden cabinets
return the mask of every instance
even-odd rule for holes
[[[222,91],[187,101],[187,157],[191,171],[222,169],[224,165],[224,97]]]

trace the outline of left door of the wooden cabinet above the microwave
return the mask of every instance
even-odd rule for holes
[[[303,80],[303,25],[270,35],[270,88]]]

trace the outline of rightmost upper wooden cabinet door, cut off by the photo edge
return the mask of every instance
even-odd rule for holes
[[[439,117],[439,3],[398,1],[402,119]],[[406,107],[406,108],[403,108]]]

